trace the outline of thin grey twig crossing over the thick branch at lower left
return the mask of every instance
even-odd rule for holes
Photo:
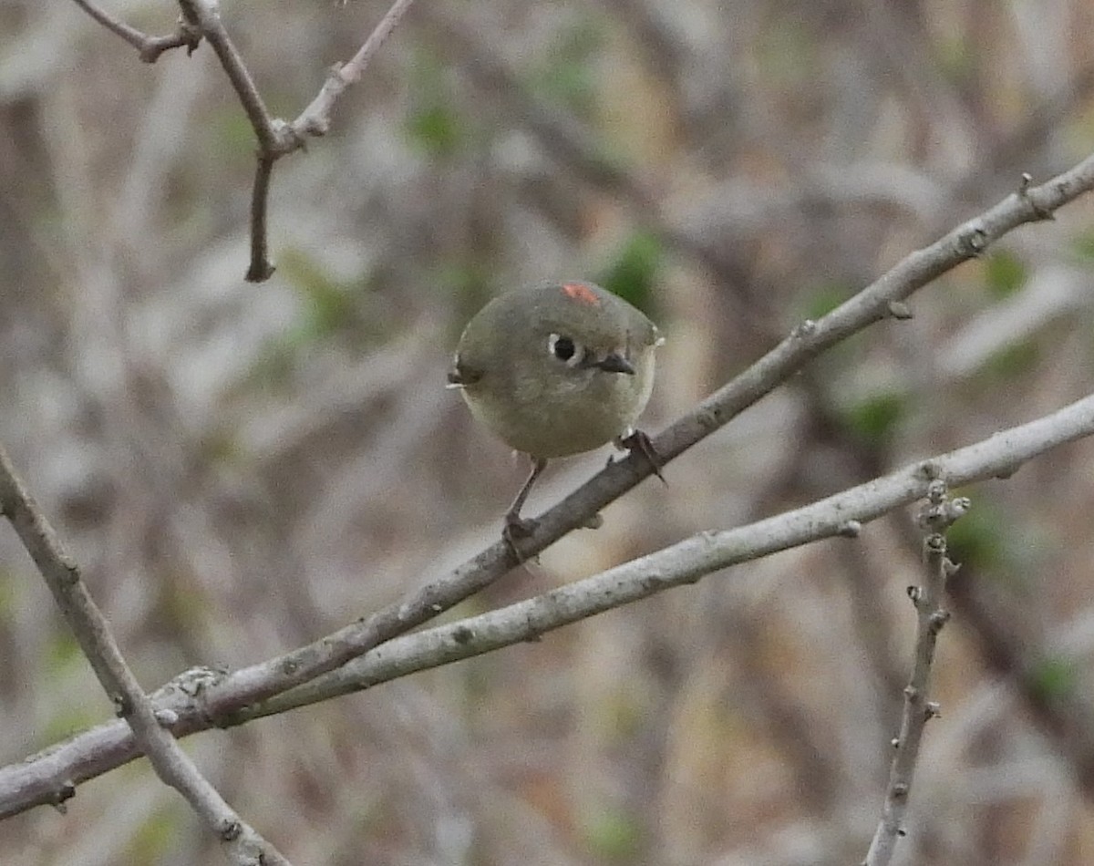
[[[53,527],[15,475],[2,445],[0,513],[11,522],[38,566],[95,676],[118,715],[128,723],[135,742],[148,756],[156,775],[189,801],[224,843],[225,853],[233,863],[289,866],[289,861],[224,801],[174,736],[161,725],[155,707],[126,664],[106,617],[88,592],[79,566],[62,549]]]

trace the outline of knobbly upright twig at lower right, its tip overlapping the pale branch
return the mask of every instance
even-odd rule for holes
[[[916,659],[911,677],[904,689],[900,733],[893,740],[894,753],[882,817],[863,866],[887,866],[892,862],[896,844],[906,833],[905,816],[923,730],[927,723],[939,715],[939,705],[928,700],[928,689],[939,632],[950,619],[950,611],[943,607],[943,601],[946,577],[954,565],[946,559],[944,533],[969,507],[969,501],[965,498],[947,499],[947,481],[945,475],[930,481],[927,488],[928,504],[920,515],[920,525],[928,530],[923,538],[924,580],[922,586],[908,587],[908,596],[916,606]],[[961,483],[956,479],[954,482]]]

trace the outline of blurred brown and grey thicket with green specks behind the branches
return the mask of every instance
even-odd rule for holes
[[[106,2],[106,0],[104,0]],[[110,2],[166,33],[170,3]],[[386,0],[224,5],[294,117]],[[0,0],[0,441],[147,688],[247,665],[497,539],[525,467],[444,389],[509,286],[667,343],[656,432],[910,250],[1094,150],[1084,0],[421,0],[277,167],[209,47]],[[475,612],[1037,418],[1094,385],[1094,209],[1024,227],[514,572]],[[535,514],[606,453],[552,465]],[[964,491],[901,864],[1094,862],[1094,444]],[[187,741],[296,864],[847,864],[911,660],[913,510],[488,657]],[[0,761],[110,717],[0,531]],[[221,862],[143,761],[5,864]]]

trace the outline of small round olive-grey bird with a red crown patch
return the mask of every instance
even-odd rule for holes
[[[663,342],[641,311],[586,281],[504,292],[468,321],[449,387],[477,421],[532,460],[504,516],[511,545],[535,528],[520,513],[549,459],[614,442],[640,449],[661,476],[649,436],[633,425],[650,399],[654,350]]]

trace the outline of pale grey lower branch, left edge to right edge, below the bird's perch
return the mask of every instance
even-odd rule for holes
[[[1006,477],[1026,460],[1094,435],[1094,397],[1087,397],[1045,418],[1001,431],[982,442],[842,491],[819,502],[768,517],[749,526],[705,533],[625,563],[602,574],[577,581],[526,601],[427,631],[407,634],[376,647],[345,668],[310,682],[261,705],[237,712],[231,724],[283,712],[338,694],[370,688],[427,668],[481,655],[533,640],[552,629],[645,598],[673,586],[691,583],[705,574],[806,545],[823,538],[856,534],[861,525],[924,495],[932,480],[945,478],[953,485]],[[282,665],[291,664],[282,656]],[[245,695],[251,688],[245,671],[220,677],[222,700],[231,691]],[[218,679],[197,670],[176,678],[179,683],[200,680],[200,687],[177,686],[173,680],[158,692],[158,704],[175,717],[173,730],[182,737],[212,727],[201,700]],[[236,695],[238,698],[241,695]],[[219,724],[229,724],[220,719]],[[101,775],[139,754],[126,726],[112,722],[53,746],[40,754],[0,769],[0,818],[33,806],[53,803],[58,792],[71,795],[74,785]]]

